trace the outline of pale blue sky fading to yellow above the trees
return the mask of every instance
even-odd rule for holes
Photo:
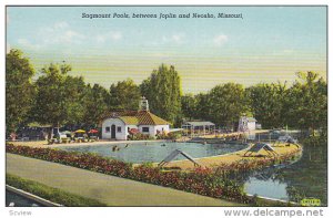
[[[82,19],[82,13],[242,13],[243,19]],[[73,75],[109,87],[173,64],[185,93],[216,84],[326,74],[324,7],[9,7],[7,45],[37,70],[67,61]]]

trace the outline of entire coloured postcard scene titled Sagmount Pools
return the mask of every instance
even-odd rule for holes
[[[6,207],[326,207],[327,7],[7,6],[3,134]]]

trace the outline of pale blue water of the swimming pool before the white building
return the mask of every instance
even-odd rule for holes
[[[112,150],[113,146],[118,146],[120,149]],[[70,152],[82,153],[97,153],[101,156],[113,157],[119,160],[128,163],[159,163],[163,160],[174,149],[181,149],[189,154],[193,158],[210,157],[216,155],[223,155],[232,152],[244,149],[244,144],[199,144],[199,143],[165,143],[165,142],[150,142],[145,143],[127,143],[110,144],[110,145],[83,145],[83,146],[68,146],[61,147],[61,149]],[[185,159],[179,155],[174,160]]]

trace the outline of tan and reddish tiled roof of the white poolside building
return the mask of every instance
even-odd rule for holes
[[[117,117],[128,125],[169,125],[168,121],[148,112],[148,111],[120,111],[111,112],[103,120]]]

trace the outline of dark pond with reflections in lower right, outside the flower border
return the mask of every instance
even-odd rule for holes
[[[270,167],[243,179],[245,191],[259,196],[299,201],[319,198],[327,205],[327,145],[304,146],[295,163]]]

